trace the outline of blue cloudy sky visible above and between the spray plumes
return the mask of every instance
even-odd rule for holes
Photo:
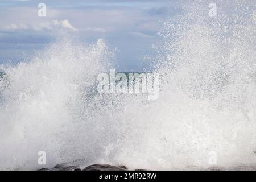
[[[45,3],[46,16],[38,16]],[[179,11],[172,0],[0,0],[0,64],[26,61],[66,31],[82,42],[103,38],[120,71],[138,71],[154,55],[164,19]]]

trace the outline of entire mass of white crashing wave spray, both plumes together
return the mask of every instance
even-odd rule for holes
[[[157,100],[92,94],[98,73],[114,68],[102,39],[66,35],[26,63],[1,65],[0,169],[42,168],[38,151],[44,168],[76,159],[165,170],[255,164],[255,3],[225,2],[214,18],[204,1],[189,2],[164,23],[152,58]]]

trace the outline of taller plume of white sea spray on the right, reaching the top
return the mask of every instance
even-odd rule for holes
[[[155,102],[122,106],[122,132],[129,132],[114,147],[121,148],[116,162],[150,169],[255,163],[254,3],[225,2],[217,17],[204,1],[189,2],[165,23],[155,70],[162,92]]]

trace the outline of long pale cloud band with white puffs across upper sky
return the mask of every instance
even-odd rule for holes
[[[60,9],[47,7],[47,16],[39,17],[37,7],[0,7],[0,30],[67,30],[86,33],[144,32],[159,30],[159,19],[142,9],[130,7],[84,7]],[[20,23],[23,23],[21,26]],[[24,26],[26,25],[26,26]],[[144,36],[139,35],[137,36]]]

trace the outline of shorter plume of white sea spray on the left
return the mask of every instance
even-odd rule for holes
[[[85,150],[94,145],[86,137],[92,126],[80,131],[79,125],[97,73],[112,60],[102,39],[85,45],[65,37],[28,63],[2,65],[8,84],[0,95],[1,169],[36,169],[38,151],[46,151],[48,166],[92,158]]]

